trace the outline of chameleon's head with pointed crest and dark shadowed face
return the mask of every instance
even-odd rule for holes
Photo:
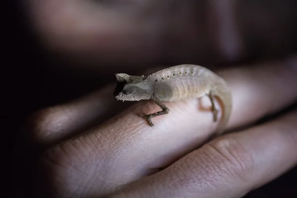
[[[113,96],[118,100],[136,101],[150,99],[149,85],[146,76],[129,76],[128,74],[115,74],[117,86]]]

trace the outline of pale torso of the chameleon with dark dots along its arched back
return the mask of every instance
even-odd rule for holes
[[[200,98],[214,83],[222,83],[215,73],[198,65],[177,65],[153,73],[148,81],[162,101]]]

